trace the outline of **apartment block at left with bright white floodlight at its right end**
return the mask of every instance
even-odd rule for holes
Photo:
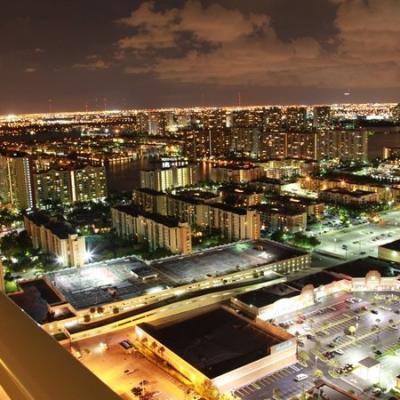
[[[68,223],[32,213],[24,216],[24,224],[34,248],[53,254],[57,262],[66,267],[85,264],[85,238]]]

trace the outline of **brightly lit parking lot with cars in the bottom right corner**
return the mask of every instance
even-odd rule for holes
[[[364,399],[388,399],[400,374],[400,296],[392,293],[340,293],[274,323],[298,337],[300,362],[235,392],[243,400],[271,399],[279,388],[290,399],[314,385],[315,372]],[[367,357],[380,364],[376,386],[366,379],[359,362]],[[308,376],[301,382],[299,373]],[[381,388],[378,388],[378,386]]]

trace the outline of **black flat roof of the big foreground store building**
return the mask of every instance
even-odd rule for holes
[[[173,325],[139,326],[211,379],[267,356],[280,342],[222,308]]]

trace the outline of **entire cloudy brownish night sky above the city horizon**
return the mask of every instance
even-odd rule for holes
[[[400,100],[400,0],[2,3],[2,114]]]

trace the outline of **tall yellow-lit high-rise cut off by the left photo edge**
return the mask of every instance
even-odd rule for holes
[[[32,164],[20,153],[0,154],[0,203],[21,210],[34,206]]]

